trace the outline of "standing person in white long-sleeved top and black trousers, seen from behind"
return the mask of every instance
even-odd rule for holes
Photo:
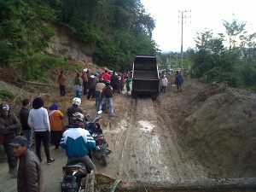
[[[47,158],[47,164],[55,162],[55,159],[51,159],[49,156],[49,116],[46,108],[43,108],[43,99],[37,97],[32,102],[32,109],[29,112],[27,124],[35,131],[36,138],[36,153],[38,159],[42,162],[41,158],[41,141],[44,143],[44,153]]]

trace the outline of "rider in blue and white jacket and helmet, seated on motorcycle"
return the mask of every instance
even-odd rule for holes
[[[91,170],[96,172],[96,166],[88,156],[90,150],[96,148],[96,142],[90,136],[89,131],[81,128],[84,125],[84,114],[73,113],[70,125],[71,129],[65,131],[61,138],[61,148],[66,150],[67,163],[77,160],[83,161],[89,172]]]

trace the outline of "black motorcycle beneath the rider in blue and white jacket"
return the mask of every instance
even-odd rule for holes
[[[73,161],[62,167],[61,192],[94,191],[95,172],[87,172],[84,162]]]

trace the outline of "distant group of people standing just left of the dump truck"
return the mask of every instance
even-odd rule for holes
[[[59,74],[58,82],[60,85],[60,95],[66,96],[67,79],[63,71]],[[90,72],[89,68],[84,68],[82,73],[77,73],[73,79],[75,96],[81,98],[86,96],[87,100],[95,100],[98,111],[106,106],[110,109],[110,115],[113,117],[113,95],[121,94],[126,87],[126,94],[129,94],[131,88],[131,72],[116,73],[105,70],[103,73]],[[111,89],[109,91],[109,89]]]

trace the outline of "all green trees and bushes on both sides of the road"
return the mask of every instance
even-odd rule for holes
[[[91,45],[97,65],[125,71],[134,55],[156,54],[160,67],[181,68],[180,53],[158,52],[154,20],[139,0],[0,0],[1,67],[20,70],[24,79],[47,80],[49,69],[67,64],[44,54],[56,34],[53,23]],[[235,19],[223,25],[226,34],[198,32],[195,49],[183,53],[183,74],[256,90],[256,33],[248,34],[246,22]]]

